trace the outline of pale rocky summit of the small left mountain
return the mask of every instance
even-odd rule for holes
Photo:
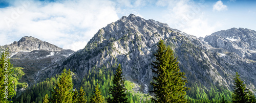
[[[14,41],[9,45],[0,46],[0,48],[4,49],[8,47],[11,52],[18,51],[33,51],[33,50],[49,50],[49,51],[61,51],[62,48],[53,45],[51,43],[41,41],[32,36],[22,37],[19,41]]]

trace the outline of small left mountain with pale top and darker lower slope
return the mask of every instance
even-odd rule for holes
[[[34,37],[23,37],[18,42],[0,46],[9,48],[13,67],[23,67],[25,75],[19,80],[28,85],[44,81],[45,69],[51,69],[61,65],[62,62],[74,53],[70,49],[62,49],[51,43],[41,41]]]

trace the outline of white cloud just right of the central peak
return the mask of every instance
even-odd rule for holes
[[[222,26],[220,22],[209,22],[203,10],[205,8],[204,2],[159,0],[157,5],[167,7],[162,22],[167,23],[170,28],[181,30],[190,35],[204,37],[214,33],[216,28]]]

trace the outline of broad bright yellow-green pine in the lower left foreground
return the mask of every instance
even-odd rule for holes
[[[53,87],[51,102],[72,102],[74,93],[71,71],[64,69]]]

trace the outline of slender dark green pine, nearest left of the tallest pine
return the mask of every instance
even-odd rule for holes
[[[110,94],[113,98],[108,98],[108,102],[129,102],[125,91],[124,78],[122,76],[121,65],[119,64],[114,75],[113,85],[110,87]]]

